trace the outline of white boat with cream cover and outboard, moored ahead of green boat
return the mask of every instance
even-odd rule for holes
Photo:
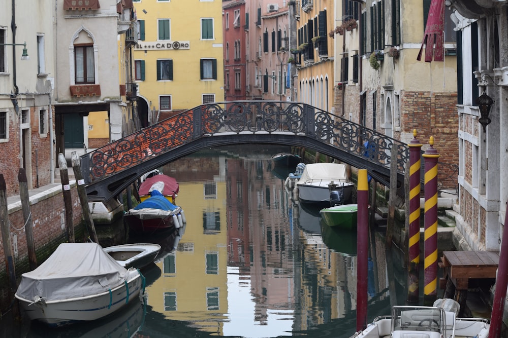
[[[355,184],[347,178],[346,166],[340,163],[310,163],[296,182],[298,199],[304,203],[330,206],[330,196],[336,192],[334,204],[350,201]]]

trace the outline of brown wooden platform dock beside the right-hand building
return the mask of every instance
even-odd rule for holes
[[[493,285],[498,265],[498,252],[443,251],[439,263],[443,277],[439,279],[439,287],[444,289],[444,298],[453,298],[460,304],[459,316],[463,315],[467,291],[473,287],[471,282]]]

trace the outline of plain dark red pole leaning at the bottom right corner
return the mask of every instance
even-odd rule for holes
[[[501,338],[504,313],[504,299],[506,286],[508,286],[508,204],[504,212],[504,230],[499,252],[499,266],[496,275],[496,290],[492,302],[492,314],[490,316],[489,338]]]

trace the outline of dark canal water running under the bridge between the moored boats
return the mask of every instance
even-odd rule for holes
[[[138,237],[162,252],[141,272],[145,295],[103,320],[49,328],[0,322],[8,337],[349,337],[356,331],[356,233],[321,223],[295,204],[286,147],[241,145],[197,152],[161,170],[180,184],[186,216],[177,234]],[[386,255],[382,227],[369,236],[368,320],[404,303],[401,262]],[[398,295],[398,296],[397,296]],[[399,297],[399,299],[397,299]]]

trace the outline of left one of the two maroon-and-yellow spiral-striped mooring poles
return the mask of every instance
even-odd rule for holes
[[[420,293],[420,192],[422,167],[422,143],[416,138],[416,129],[413,130],[413,139],[409,146],[409,259],[407,265],[407,302],[417,303]]]

